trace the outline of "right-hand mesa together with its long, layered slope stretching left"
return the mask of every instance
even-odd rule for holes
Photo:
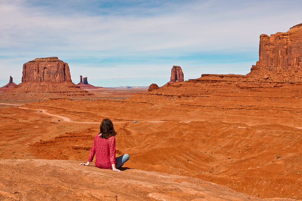
[[[297,93],[302,86],[301,46],[302,24],[291,27],[286,33],[278,32],[270,36],[262,34],[259,43],[259,61],[252,65],[249,74],[202,74],[198,79],[173,83],[171,81],[175,80],[174,77],[177,75],[175,72],[178,69],[173,66],[171,81],[165,84],[165,87],[152,90],[148,94],[135,95],[132,99],[136,99],[136,96],[140,97],[139,99],[144,97],[145,100],[158,99],[161,96],[172,100],[216,100],[219,97],[244,99],[244,95],[247,94],[257,97],[265,94],[267,98],[283,100],[291,97],[292,101],[292,98],[301,96]],[[285,92],[286,97],[284,97]]]

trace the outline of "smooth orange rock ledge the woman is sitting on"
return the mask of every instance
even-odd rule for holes
[[[117,173],[78,164],[71,160],[0,159],[0,199],[263,200],[191,177],[129,168]]]

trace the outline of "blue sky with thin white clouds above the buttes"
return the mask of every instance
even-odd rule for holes
[[[57,56],[71,78],[95,86],[159,86],[179,65],[201,74],[247,74],[262,33],[302,23],[300,1],[0,0],[0,86],[22,66]]]

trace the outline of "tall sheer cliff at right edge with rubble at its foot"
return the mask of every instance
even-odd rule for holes
[[[302,24],[286,33],[260,35],[259,61],[251,68],[252,77],[268,81],[302,80]]]

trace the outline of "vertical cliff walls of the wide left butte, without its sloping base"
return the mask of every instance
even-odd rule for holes
[[[57,57],[36,58],[23,64],[22,82],[71,82],[69,66]]]

